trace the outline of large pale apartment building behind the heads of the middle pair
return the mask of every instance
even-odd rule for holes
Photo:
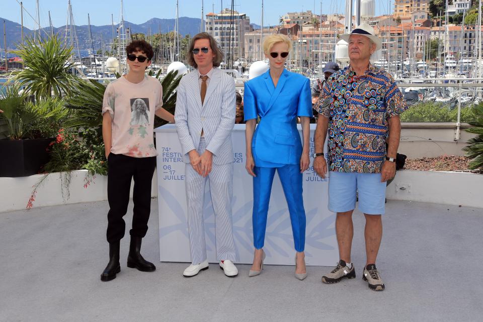
[[[218,14],[207,14],[205,26],[206,32],[215,38],[225,55],[233,52],[234,59],[244,56],[245,34],[253,31],[250,17],[234,10],[232,12],[223,9]]]

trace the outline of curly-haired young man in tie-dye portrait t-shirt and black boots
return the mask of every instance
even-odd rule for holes
[[[127,266],[142,272],[156,269],[139,253],[151,211],[151,181],[156,166],[154,115],[169,122],[175,121],[173,114],[162,107],[161,83],[145,75],[153,56],[151,45],[144,40],[134,40],[127,45],[126,53],[129,72],[107,86],[102,105],[110,207],[107,215],[109,264],[101,275],[102,281],[116,278],[121,270],[119,244],[124,236],[122,217],[127,212],[131,179],[134,179],[134,209]]]

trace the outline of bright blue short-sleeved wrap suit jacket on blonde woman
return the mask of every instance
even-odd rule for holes
[[[245,83],[244,114],[246,121],[257,115],[262,119],[252,141],[257,158],[275,164],[300,163],[297,116],[313,116],[307,77],[284,69],[276,88],[270,70],[251,79]]]

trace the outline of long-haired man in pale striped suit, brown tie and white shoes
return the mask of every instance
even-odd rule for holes
[[[203,199],[210,182],[215,213],[216,256],[226,276],[238,275],[233,265],[231,199],[233,195],[233,149],[231,130],[235,121],[235,84],[219,66],[223,53],[208,33],[191,39],[188,62],[195,70],[183,76],[177,90],[176,127],[186,163],[188,232],[191,265],[183,276],[208,269]]]

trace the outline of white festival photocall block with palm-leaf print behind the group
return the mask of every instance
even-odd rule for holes
[[[310,124],[310,153],[313,152],[315,124]],[[187,227],[185,164],[174,124],[156,132],[157,187],[159,206],[159,250],[162,262],[191,262]],[[299,132],[301,127],[299,125]],[[253,261],[253,180],[245,170],[245,124],[235,124],[233,140],[233,237],[236,263]],[[307,265],[334,266],[339,260],[335,233],[335,214],[328,210],[329,179],[320,178],[312,168],[303,174],[303,203],[306,214],[305,262]],[[208,261],[217,262],[215,253],[215,217],[205,189],[205,238]],[[275,175],[265,235],[265,264],[294,265],[295,249],[287,202]]]

